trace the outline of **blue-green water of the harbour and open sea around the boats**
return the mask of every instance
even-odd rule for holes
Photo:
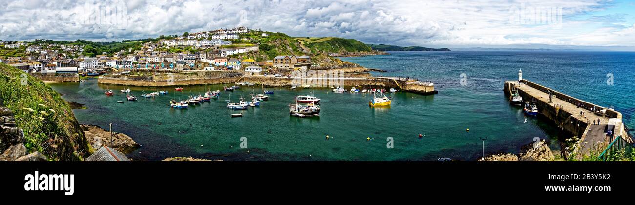
[[[119,93],[123,86],[100,85],[96,79],[51,87],[64,94],[65,100],[86,104],[87,110],[74,110],[81,124],[107,128],[112,123],[114,131],[126,133],[142,145],[128,154],[134,160],[192,156],[247,161],[431,161],[439,157],[472,161],[481,157],[479,137],[487,137],[487,155],[517,154],[535,136],[559,149],[558,136],[568,136],[544,119],[527,117],[523,122],[521,109],[509,105],[503,82],[517,79],[519,69],[525,79],[535,83],[615,106],[632,127],[634,57],[635,53],[628,52],[450,51],[342,58],[388,71],[373,73],[375,76],[434,81],[439,91],[429,96],[398,92],[387,108],[368,107],[367,94],[331,93],[330,89],[275,88],[270,100],[259,108],[231,111],[225,107],[229,93],[237,102],[242,93],[248,98],[252,88],[223,91],[218,100],[175,110],[168,106],[170,98],[203,93],[205,86],[184,86],[183,93],[166,88],[170,94],[154,99],[140,97],[141,91],[163,88],[131,87],[140,100],[123,104],[116,103],[126,100]],[[467,75],[465,86],[460,84],[462,73]],[[613,74],[611,86],[606,84],[608,73]],[[221,85],[210,87],[222,89]],[[105,88],[115,95],[105,96]],[[323,99],[321,117],[291,117],[287,106],[293,97],[310,91]],[[234,112],[244,116],[230,117]],[[419,134],[425,136],[418,138]],[[248,149],[240,149],[242,136]],[[387,149],[388,137],[394,139],[394,149]]]

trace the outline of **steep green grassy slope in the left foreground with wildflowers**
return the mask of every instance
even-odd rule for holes
[[[0,63],[0,97],[15,112],[29,152],[39,151],[53,161],[81,160],[90,154],[68,103],[36,77]]]

